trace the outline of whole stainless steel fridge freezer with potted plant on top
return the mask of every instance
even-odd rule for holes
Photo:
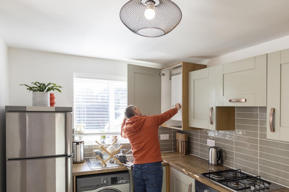
[[[6,106],[8,192],[72,191],[72,107]]]

